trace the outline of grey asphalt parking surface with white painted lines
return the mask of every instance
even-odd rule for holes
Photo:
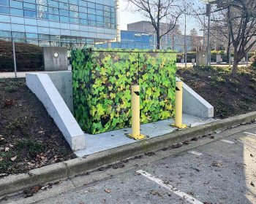
[[[117,167],[63,181],[29,198],[16,195],[4,203],[256,203],[256,125]]]

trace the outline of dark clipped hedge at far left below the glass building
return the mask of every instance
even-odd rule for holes
[[[15,42],[16,66],[18,71],[43,69],[42,47]],[[0,71],[13,71],[12,42],[0,40]]]

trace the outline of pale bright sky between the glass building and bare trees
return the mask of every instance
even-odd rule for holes
[[[203,6],[203,4],[200,3],[199,0],[194,0],[194,4],[196,6]],[[127,1],[126,0],[120,0],[120,23],[121,23],[121,30],[127,30],[127,24],[134,23],[140,20],[147,20],[146,17],[143,17],[143,15],[140,15],[138,12],[131,12],[129,7],[127,7]],[[184,34],[184,16],[181,17],[178,24],[181,26],[181,32]],[[197,29],[197,33],[201,34],[200,25],[197,23],[197,20],[195,20],[194,17],[189,16],[187,17],[187,33],[189,34],[189,31],[192,30],[192,28]]]

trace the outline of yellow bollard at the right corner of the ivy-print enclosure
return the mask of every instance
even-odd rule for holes
[[[175,93],[175,124],[173,127],[179,129],[187,128],[187,125],[182,124],[182,93],[183,93],[183,82],[176,82],[176,93]]]

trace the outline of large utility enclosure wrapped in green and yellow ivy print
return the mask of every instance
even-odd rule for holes
[[[176,54],[161,50],[72,50],[74,115],[92,134],[130,127],[131,85],[140,85],[140,122],[174,116]]]

